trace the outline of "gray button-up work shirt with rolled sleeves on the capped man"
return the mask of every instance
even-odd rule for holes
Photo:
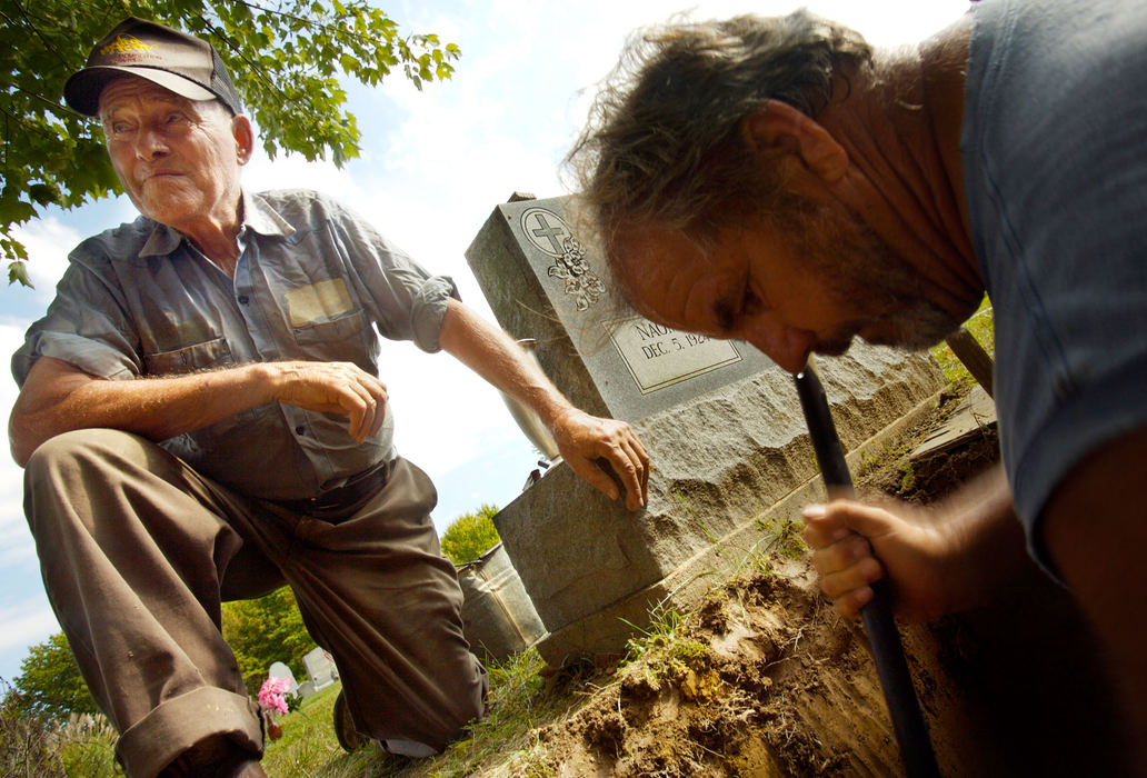
[[[314,192],[243,194],[234,281],[178,232],[140,217],[80,243],[47,316],[11,360],[41,356],[125,380],[252,361],[352,361],[377,375],[379,334],[437,351],[453,281],[431,277],[369,224]],[[268,404],[164,448],[242,493],[312,497],[395,456],[382,429],[357,444],[346,419]]]

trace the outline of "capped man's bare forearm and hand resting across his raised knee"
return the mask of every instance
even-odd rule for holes
[[[342,413],[357,441],[381,427],[385,387],[349,363],[252,363],[170,378],[109,381],[69,363],[41,357],[21,388],[8,420],[11,454],[23,467],[48,438],[106,427],[164,441],[240,411],[282,402]]]

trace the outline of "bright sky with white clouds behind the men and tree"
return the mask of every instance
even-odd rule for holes
[[[678,14],[719,18],[797,7],[844,22],[883,47],[918,41],[968,8],[966,0],[403,0],[381,2],[404,33],[435,32],[462,50],[454,77],[419,92],[400,75],[379,88],[348,86],[361,156],[338,170],[298,156],[271,161],[257,145],[243,173],[259,192],[310,187],[335,195],[494,320],[463,252],[514,192],[567,194],[559,168],[583,126],[593,85],[625,38]],[[236,79],[242,78],[235,73]],[[0,353],[10,355],[53,296],[68,252],[84,238],[135,218],[126,199],[54,210],[18,232],[34,289],[0,288]],[[7,357],[6,357],[7,358]],[[439,532],[484,504],[506,506],[540,457],[500,395],[448,355],[383,341],[380,371],[399,452],[434,479]],[[0,380],[0,407],[16,397]],[[14,679],[28,647],[60,631],[23,515],[22,470],[0,457],[0,678]]]

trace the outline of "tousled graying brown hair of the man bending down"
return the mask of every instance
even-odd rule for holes
[[[704,241],[783,200],[782,171],[762,180],[741,120],[766,100],[816,117],[834,77],[851,88],[872,64],[860,33],[804,9],[637,31],[565,158],[607,255],[623,223],[657,221]]]

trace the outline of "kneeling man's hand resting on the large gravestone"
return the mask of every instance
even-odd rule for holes
[[[562,459],[595,489],[610,499],[624,489],[630,511],[649,499],[649,454],[627,423],[570,407],[554,420],[552,431]]]

